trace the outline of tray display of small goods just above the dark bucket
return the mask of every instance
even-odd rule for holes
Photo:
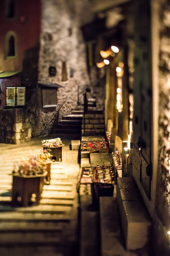
[[[105,167],[104,165],[99,167],[82,168],[82,176],[80,184],[87,183],[113,183],[115,181],[114,168],[112,166]]]

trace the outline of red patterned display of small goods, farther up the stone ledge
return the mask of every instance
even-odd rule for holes
[[[101,141],[82,141],[81,151],[99,151],[101,148],[107,148],[107,142],[103,139]]]

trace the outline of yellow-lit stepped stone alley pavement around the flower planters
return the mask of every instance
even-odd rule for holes
[[[48,138],[55,137],[49,135]],[[62,139],[62,162],[52,164],[51,184],[44,185],[39,206],[12,208],[11,183],[14,162],[29,159],[42,150],[41,140],[0,146],[0,255],[77,255],[78,151],[70,151],[71,141]]]

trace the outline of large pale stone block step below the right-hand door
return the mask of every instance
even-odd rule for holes
[[[151,222],[132,178],[117,179],[117,202],[127,249],[145,247],[150,242]]]

